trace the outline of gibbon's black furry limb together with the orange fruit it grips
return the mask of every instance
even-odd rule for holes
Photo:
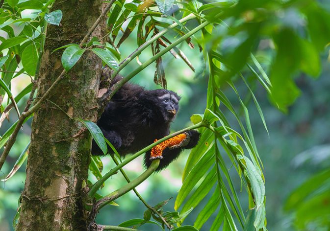
[[[156,171],[162,170],[176,160],[183,149],[195,147],[200,139],[200,135],[201,134],[195,130],[189,130],[161,142],[154,146],[152,150],[146,152],[144,158],[145,166],[149,167],[153,160],[160,159],[160,164]]]

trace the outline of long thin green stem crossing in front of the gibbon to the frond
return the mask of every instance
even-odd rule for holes
[[[120,168],[122,168],[123,166],[125,166],[127,163],[131,162],[132,160],[134,160],[135,158],[141,156],[143,153],[147,152],[148,150],[152,149],[154,146],[156,146],[157,144],[163,142],[166,139],[170,139],[172,137],[175,137],[183,132],[186,132],[188,130],[192,130],[192,129],[197,129],[204,126],[202,122],[192,125],[190,127],[187,127],[185,129],[182,129],[178,132],[172,133],[162,139],[157,140],[156,142],[150,144],[149,146],[145,147],[144,149],[140,150],[139,152],[135,153],[134,155],[128,157],[127,159],[125,159],[123,162],[121,162],[120,164],[118,164],[117,166],[115,166],[113,169],[111,169],[109,172],[107,172],[99,181],[97,181],[91,188],[91,190],[89,190],[88,192],[88,196],[90,198],[93,198],[95,193],[99,190],[99,188],[101,187],[101,185],[103,185],[103,183],[109,178],[111,177],[115,172],[117,172]]]

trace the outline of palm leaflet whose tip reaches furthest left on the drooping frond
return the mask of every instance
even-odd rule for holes
[[[174,208],[178,208],[183,203],[184,199],[188,196],[194,186],[202,179],[207,170],[214,163],[214,146],[212,146],[202,159],[191,169],[187,178],[183,181],[182,186],[178,192]]]

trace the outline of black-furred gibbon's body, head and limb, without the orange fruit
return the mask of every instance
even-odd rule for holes
[[[122,79],[116,76],[111,83],[114,85]],[[106,105],[97,124],[102,133],[120,155],[136,153],[142,148],[170,134],[170,123],[175,119],[180,96],[176,92],[158,89],[147,91],[143,87],[126,83]],[[178,148],[166,148],[163,159],[156,171],[159,171],[178,158],[182,149],[190,149],[197,145],[200,133],[187,131],[189,142]],[[111,153],[111,148],[108,147]],[[151,151],[146,152],[144,164],[149,167]],[[101,149],[93,140],[92,155],[103,155]]]

